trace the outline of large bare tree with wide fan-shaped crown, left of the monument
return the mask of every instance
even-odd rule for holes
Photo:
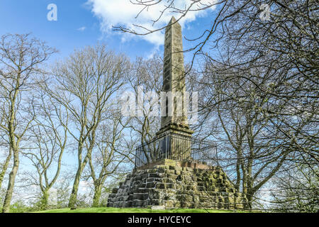
[[[54,70],[55,86],[47,87],[53,99],[69,112],[68,133],[77,143],[77,172],[69,207],[74,207],[82,172],[96,146],[96,132],[108,116],[108,101],[119,92],[128,60],[106,50],[105,45],[76,50]]]

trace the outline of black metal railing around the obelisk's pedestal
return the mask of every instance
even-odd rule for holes
[[[217,166],[216,143],[187,135],[168,133],[136,148],[135,168],[162,159]]]

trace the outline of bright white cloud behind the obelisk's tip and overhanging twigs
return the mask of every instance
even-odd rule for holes
[[[218,0],[201,0],[197,4],[194,4],[191,9],[197,9],[198,7],[203,8],[205,5],[211,5]],[[184,7],[190,6],[192,0],[175,0],[174,6],[179,9],[184,9]],[[150,6],[147,10],[142,11],[138,18],[136,16],[143,8],[143,6],[130,3],[130,0],[88,0],[87,4],[91,6],[91,11],[97,16],[101,22],[101,31],[106,34],[110,34],[112,31],[112,26],[125,26],[125,28],[130,28],[138,33],[145,33],[145,30],[133,26],[139,25],[149,28],[151,30],[162,28],[166,26],[172,16],[179,18],[180,15],[177,13],[172,13],[172,10],[165,11],[162,15],[160,21],[153,25],[152,20],[156,20],[161,11],[167,5],[167,1],[161,1],[159,4]],[[195,21],[199,16],[205,16],[207,11],[213,10],[214,7],[211,7],[205,11],[189,11],[184,18],[179,21],[182,28],[186,23]],[[122,41],[129,40],[133,38],[133,35],[125,33],[122,34]],[[135,35],[135,38],[137,36]],[[157,32],[151,33],[150,35],[138,35],[138,38],[147,40],[148,42],[154,45],[164,44],[164,34]]]

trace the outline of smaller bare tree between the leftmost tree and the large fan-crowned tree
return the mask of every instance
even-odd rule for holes
[[[36,170],[36,176],[30,175],[27,182],[40,187],[40,208],[47,209],[50,189],[60,175],[62,156],[67,148],[69,113],[42,90],[36,94],[37,114],[28,132],[32,146],[23,148],[22,152]]]

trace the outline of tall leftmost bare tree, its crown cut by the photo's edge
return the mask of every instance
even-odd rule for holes
[[[30,35],[3,35],[0,40],[0,87],[1,130],[9,139],[9,149],[12,150],[13,167],[9,175],[9,183],[2,212],[9,212],[13,194],[16,173],[19,167],[19,156],[23,136],[34,120],[32,92],[37,77],[43,74],[41,65],[55,52],[45,43]]]

